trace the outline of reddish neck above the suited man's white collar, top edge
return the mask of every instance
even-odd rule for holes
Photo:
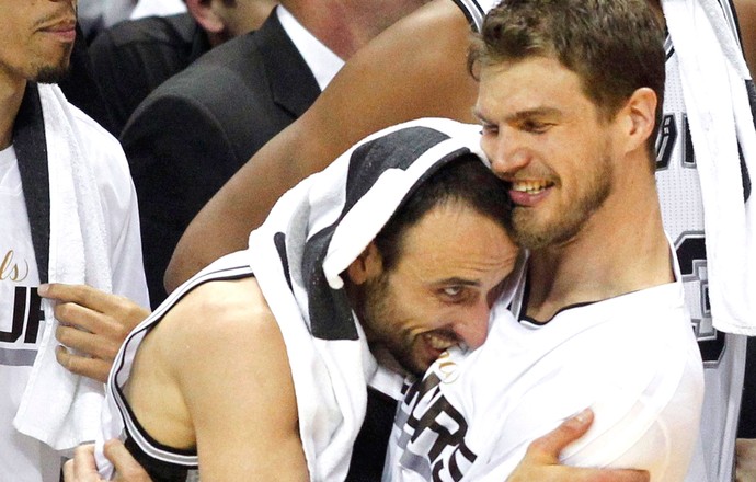
[[[343,60],[425,0],[282,1],[312,35]]]

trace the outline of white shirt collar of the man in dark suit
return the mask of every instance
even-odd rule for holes
[[[299,54],[305,58],[305,62],[312,71],[318,85],[320,85],[320,90],[325,90],[329,82],[344,66],[344,60],[339,58],[336,54],[308,32],[284,5],[276,8],[276,14],[284,31],[291,38],[297,50],[299,50]]]

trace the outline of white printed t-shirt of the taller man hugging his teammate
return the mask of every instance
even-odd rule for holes
[[[385,481],[506,480],[530,441],[586,406],[594,424],[564,463],[685,479],[703,378],[681,283],[569,307],[548,323],[517,322],[505,302],[492,319],[481,348],[450,351],[408,389]]]

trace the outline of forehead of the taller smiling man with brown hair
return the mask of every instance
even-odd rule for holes
[[[580,77],[553,57],[530,57],[480,69],[476,113],[483,118],[561,111],[581,103],[589,100]]]

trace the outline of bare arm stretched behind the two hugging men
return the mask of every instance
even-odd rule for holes
[[[417,117],[473,122],[466,69],[470,27],[434,0],[355,54],[316,103],[274,137],[192,221],[165,273],[170,292],[218,256],[247,246],[275,200],[380,128]]]

